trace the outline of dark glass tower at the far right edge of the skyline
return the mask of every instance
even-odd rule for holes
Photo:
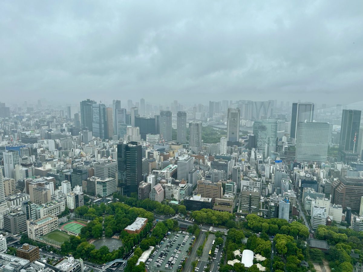
[[[360,116],[362,111],[343,110],[340,125],[340,143],[338,160],[342,160],[343,153],[355,153],[358,149]]]

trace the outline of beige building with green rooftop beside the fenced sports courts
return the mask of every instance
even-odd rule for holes
[[[45,217],[37,220],[29,219],[26,221],[28,229],[28,238],[35,240],[39,236],[43,236],[58,228],[58,217]]]

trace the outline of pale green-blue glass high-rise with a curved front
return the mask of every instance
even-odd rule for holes
[[[277,121],[256,120],[253,123],[253,134],[256,136],[256,146],[267,158],[276,152],[277,145]]]

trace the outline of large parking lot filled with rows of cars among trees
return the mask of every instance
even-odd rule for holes
[[[176,271],[188,255],[193,235],[185,231],[166,235],[146,262],[148,271]]]

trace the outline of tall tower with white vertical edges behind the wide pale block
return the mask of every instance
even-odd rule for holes
[[[296,138],[298,122],[314,120],[314,103],[293,103],[291,112],[290,138]]]

